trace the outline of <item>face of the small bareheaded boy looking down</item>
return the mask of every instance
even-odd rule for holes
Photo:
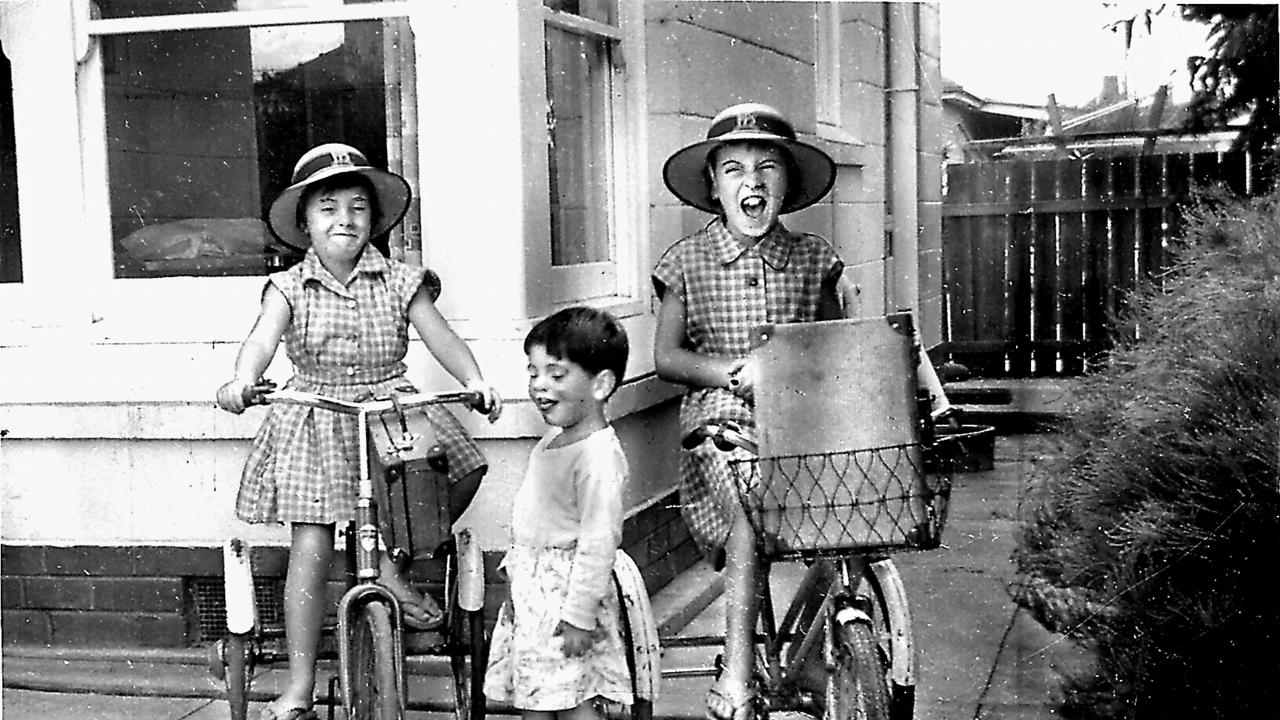
[[[611,373],[588,373],[577,363],[556,357],[535,345],[529,348],[529,398],[548,425],[586,432],[603,427]]]

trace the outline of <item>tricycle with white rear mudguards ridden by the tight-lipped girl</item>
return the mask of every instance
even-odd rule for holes
[[[433,470],[435,498],[447,497],[447,461],[443,451],[434,445],[429,424],[411,428],[406,413],[428,405],[462,404],[477,406],[483,402],[475,392],[407,393],[379,397],[367,402],[349,402],[316,393],[279,389],[250,398],[253,404],[297,404],[320,410],[355,415],[360,438],[360,482],[356,519],[346,530],[347,559],[352,565],[355,582],[338,605],[338,625],[325,626],[338,643],[338,674],[329,684],[329,696],[340,689],[342,706],[348,720],[399,720],[407,708],[406,650],[416,655],[447,656],[453,675],[453,706],[458,720],[484,720],[484,673],[486,664],[486,637],[484,629],[484,565],[480,547],[467,529],[443,542],[435,556],[443,556],[445,624],[438,632],[412,633],[406,643],[401,623],[399,600],[378,583],[379,547],[383,539],[399,539],[412,533],[412,519],[406,516],[392,496],[396,486],[387,468],[378,461],[371,438],[378,419],[383,438],[392,450],[412,452],[429,448],[426,462]],[[388,421],[388,419],[390,421]],[[371,469],[371,466],[374,466]],[[376,470],[376,471],[375,471]],[[398,483],[401,491],[406,483]],[[444,488],[444,489],[442,489]],[[390,505],[387,518],[379,518],[379,506]],[[451,528],[454,518],[448,516],[448,502],[442,501],[444,528]],[[397,512],[398,511],[398,512]],[[387,539],[390,552],[393,547]],[[225,685],[232,720],[244,720],[250,685],[255,667],[273,662],[287,653],[270,651],[266,641],[283,635],[279,628],[264,628],[257,621],[253,597],[252,566],[247,543],[238,538],[224,546],[224,584],[227,591],[227,637],[210,650],[210,671]],[[406,647],[406,644],[408,647]],[[429,707],[430,708],[430,707]],[[442,708],[431,708],[442,710]],[[333,719],[334,706],[329,705]]]

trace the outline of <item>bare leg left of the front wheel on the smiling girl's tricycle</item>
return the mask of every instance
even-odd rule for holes
[[[325,583],[333,562],[333,525],[293,523],[289,570],[284,578],[284,632],[289,646],[289,680],[271,703],[278,712],[311,707],[316,685],[316,650],[328,610]]]

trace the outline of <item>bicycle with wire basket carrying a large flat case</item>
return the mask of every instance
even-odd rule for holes
[[[916,648],[906,589],[890,552],[941,544],[950,480],[927,471],[937,418],[925,409],[929,397],[910,388],[914,331],[909,315],[805,325],[760,331],[760,347],[777,345],[756,351],[762,365],[756,437],[733,423],[709,423],[682,438],[686,450],[710,442],[718,451],[735,454],[730,468],[759,559],[751,715],[909,720],[915,706]],[[823,429],[782,423],[804,416],[797,411],[805,409],[829,418],[831,409],[847,400],[847,387],[840,382],[847,386],[849,373],[823,373],[797,363],[805,356],[829,363],[837,350],[831,333],[855,325],[863,334],[872,328],[870,345],[883,355],[881,363],[867,366],[888,374],[899,370],[887,382],[888,392],[863,392],[856,398],[864,405],[887,404],[884,413],[868,411],[863,420],[891,427],[859,428],[845,434],[867,442],[828,448],[823,445],[831,439]],[[884,389],[886,383],[873,380],[877,389]],[[801,561],[806,569],[780,619],[771,574],[785,561]],[[724,637],[673,635],[660,642],[664,648],[719,647]],[[719,656],[712,667],[664,669],[663,676],[718,676],[722,669]]]

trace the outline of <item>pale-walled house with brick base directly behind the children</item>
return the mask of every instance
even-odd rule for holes
[[[232,514],[261,410],[212,396],[264,275],[297,259],[265,202],[332,140],[410,179],[385,249],[440,274],[440,309],[509,398],[494,425],[465,419],[492,468],[463,523],[490,560],[544,432],[525,332],[568,304],[623,319],[626,542],[657,589],[696,553],[649,270],[707,220],[663,187],[663,160],[730,104],[785,109],[840,167],[787,223],[833,240],[863,315],[911,309],[932,347],[941,86],[936,3],[0,3],[4,641],[220,634],[232,536],[278,584],[284,529]],[[410,365],[449,387],[424,348]],[[289,375],[283,352],[269,375]]]

